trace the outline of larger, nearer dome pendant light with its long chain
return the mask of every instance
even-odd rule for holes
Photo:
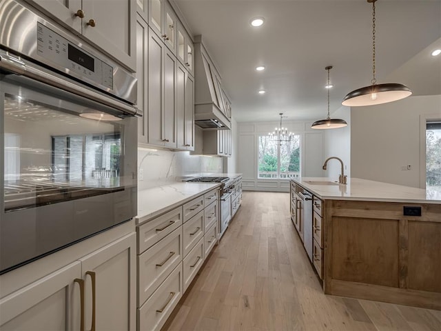
[[[342,101],[343,106],[373,106],[388,103],[409,97],[412,91],[399,83],[377,84],[375,77],[375,3],[378,0],[367,0],[372,3],[372,72],[371,86],[365,86],[349,92]]]

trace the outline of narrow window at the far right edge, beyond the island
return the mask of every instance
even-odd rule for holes
[[[429,194],[441,192],[441,121],[426,126],[426,188]]]

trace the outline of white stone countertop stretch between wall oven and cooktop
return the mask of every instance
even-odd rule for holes
[[[176,181],[147,190],[139,190],[136,225],[149,221],[178,205],[183,205],[218,186],[220,186],[220,183],[185,183]]]

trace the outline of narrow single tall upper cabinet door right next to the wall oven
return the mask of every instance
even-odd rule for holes
[[[144,116],[138,119],[138,142],[148,143],[147,137],[147,54],[148,54],[148,26],[138,16],[136,21],[136,78],[138,79],[138,108],[143,110]]]

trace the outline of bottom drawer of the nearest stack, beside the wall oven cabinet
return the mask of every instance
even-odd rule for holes
[[[182,262],[138,310],[138,330],[160,330],[183,294]]]

